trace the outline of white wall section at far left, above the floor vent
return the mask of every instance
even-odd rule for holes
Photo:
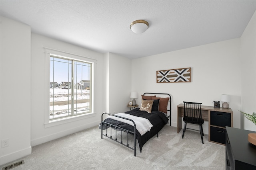
[[[31,154],[30,26],[1,16],[0,164]]]

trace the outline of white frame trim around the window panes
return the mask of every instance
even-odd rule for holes
[[[89,57],[85,57],[85,56],[81,56],[81,55],[76,55],[76,54],[72,54],[72,53],[68,53],[65,51],[60,51],[60,50],[56,50],[56,49],[51,49],[48,47],[44,47],[45,49],[45,78],[44,78],[44,82],[45,82],[45,103],[44,103],[44,108],[45,108],[45,116],[44,116],[44,127],[52,127],[52,126],[56,126],[56,125],[61,125],[64,123],[69,123],[72,121],[78,121],[81,119],[87,119],[89,117],[94,117],[96,116],[96,113],[94,113],[94,68],[95,68],[95,64],[97,63],[96,59],[92,59]],[[60,119],[54,119],[54,120],[50,120],[49,117],[49,107],[50,107],[50,94],[49,94],[49,84],[50,84],[50,56],[54,55],[56,57],[65,57],[66,59],[75,59],[78,61],[82,61],[82,62],[87,62],[87,63],[92,63],[92,80],[91,80],[91,86],[92,86],[92,90],[90,91],[90,93],[92,93],[91,97],[92,97],[92,103],[90,103],[90,107],[91,107],[91,112],[90,113],[86,113],[86,114],[80,114],[80,115],[74,115],[74,116],[70,116],[70,117],[63,117]]]

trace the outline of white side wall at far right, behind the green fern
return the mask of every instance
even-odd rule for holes
[[[241,36],[241,110],[256,112],[256,12]],[[241,115],[242,116],[242,115]],[[242,116],[242,128],[256,131],[254,123]]]

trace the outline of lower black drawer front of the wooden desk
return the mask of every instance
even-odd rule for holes
[[[226,144],[226,129],[211,126],[211,141]]]

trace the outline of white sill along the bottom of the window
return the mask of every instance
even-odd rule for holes
[[[52,120],[52,121],[50,121],[48,123],[44,123],[44,127],[45,128],[53,127],[53,126],[69,123],[69,122],[72,122],[72,121],[78,121],[78,120],[81,120],[81,119],[87,119],[89,117],[94,117],[94,116],[96,116],[96,113],[87,113],[87,114],[84,114],[84,115],[77,115],[77,116],[73,116],[73,117],[65,117],[63,119]]]

